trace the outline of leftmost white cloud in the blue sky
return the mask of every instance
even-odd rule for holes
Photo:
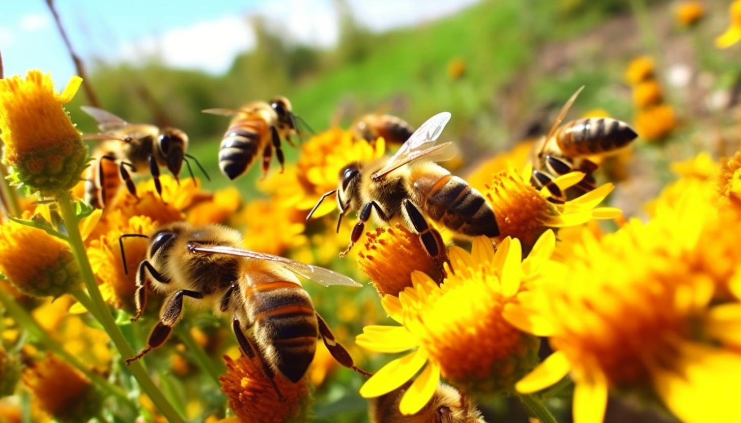
[[[137,61],[142,57],[156,57],[173,67],[222,73],[234,56],[249,50],[254,44],[255,36],[247,21],[226,17],[176,28],[158,38],[149,37],[124,45],[119,59]]]

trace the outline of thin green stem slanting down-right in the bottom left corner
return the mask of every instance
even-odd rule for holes
[[[19,306],[19,304],[16,303],[15,299],[13,299],[13,296],[10,296],[10,294],[5,292],[4,290],[0,290],[0,302],[2,302],[8,313],[10,313],[10,316],[13,316],[13,320],[15,320],[16,323],[19,324],[19,326],[24,327],[25,330],[31,333],[31,335],[36,336],[36,339],[38,339],[39,342],[41,342],[41,344],[43,344],[44,347],[47,348],[47,350],[53,351],[53,353],[55,353],[57,356],[62,357],[62,359],[64,359],[64,361],[69,363],[72,367],[80,370],[85,376],[87,376],[88,379],[93,381],[93,383],[97,384],[99,387],[102,387],[108,393],[119,397],[119,399],[122,399],[122,401],[127,402],[130,407],[136,409],[134,404],[130,402],[130,399],[128,398],[124,390],[114,384],[111,384],[98,373],[95,373],[92,370],[88,369],[87,367],[85,367],[84,364],[82,364],[82,362],[79,361],[79,359],[77,359],[77,357],[68,353],[67,350],[64,350],[64,347],[62,347],[59,342],[56,342],[56,340],[49,336],[44,328],[42,328],[39,323],[36,322],[35,319],[33,319],[33,316],[31,316],[26,310],[23,309],[23,307]]]

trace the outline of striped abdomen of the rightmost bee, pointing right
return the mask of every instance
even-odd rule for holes
[[[585,118],[559,127],[554,134],[565,156],[589,156],[625,147],[637,133],[624,121],[610,118]]]

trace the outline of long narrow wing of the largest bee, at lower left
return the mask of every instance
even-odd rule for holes
[[[250,259],[258,260],[270,260],[270,262],[277,262],[286,269],[290,270],[296,275],[303,276],[313,282],[319,283],[328,287],[330,285],[347,285],[350,287],[362,287],[361,284],[348,278],[348,276],[337,273],[333,270],[325,269],[324,267],[313,266],[311,264],[305,264],[302,262],[296,262],[296,260],[286,259],[281,256],[273,256],[272,254],[258,253],[252,250],[245,250],[242,248],[225,247],[221,245],[202,246],[199,244],[189,243],[188,249],[190,251],[196,251],[199,253],[214,253],[214,254],[227,254],[230,256],[242,256],[249,257]]]

